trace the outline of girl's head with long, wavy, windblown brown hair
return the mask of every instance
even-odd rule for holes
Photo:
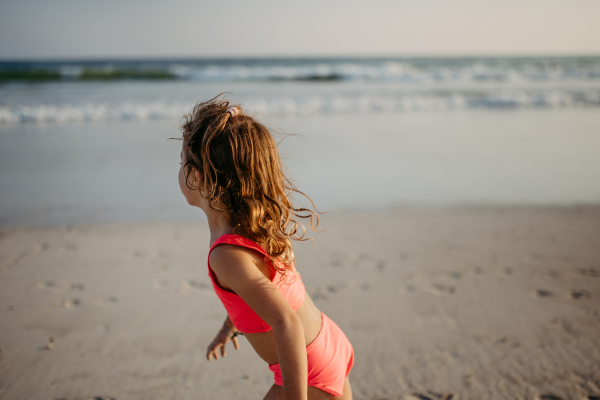
[[[196,104],[184,117],[182,191],[197,190],[211,210],[223,213],[235,233],[261,244],[285,270],[294,270],[290,238],[306,239],[304,227],[293,217],[309,218],[315,228],[317,213],[294,208],[290,195],[304,194],[285,177],[271,133],[240,106],[233,107],[237,113],[227,112],[229,101],[217,96]]]

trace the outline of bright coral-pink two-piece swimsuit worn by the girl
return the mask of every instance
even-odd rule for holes
[[[255,250],[265,256],[265,262],[271,262],[271,256],[265,249],[250,239],[238,235],[223,235],[218,238],[208,252],[209,259],[210,253],[219,244],[233,244]],[[217,296],[225,306],[229,318],[240,332],[258,333],[271,330],[271,327],[241,297],[233,291],[219,286],[210,262],[208,263],[208,276]],[[302,280],[298,276],[292,283],[289,283],[290,281],[279,282],[280,277],[279,271],[276,271],[271,282],[277,286],[292,308],[297,310],[304,302],[305,290]],[[306,346],[308,385],[339,397],[343,394],[344,381],[354,365],[354,350],[344,332],[325,314],[321,313],[321,315],[323,319],[321,330],[317,337]],[[279,364],[270,364],[269,369],[273,371],[275,384],[282,386],[283,380]]]

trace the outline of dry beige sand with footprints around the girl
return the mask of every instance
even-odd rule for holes
[[[353,343],[355,399],[600,396],[600,207],[324,220],[298,268]],[[225,318],[206,225],[0,235],[1,399],[261,399],[270,387],[243,338],[204,358]]]

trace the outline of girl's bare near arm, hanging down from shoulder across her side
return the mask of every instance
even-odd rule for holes
[[[229,286],[273,328],[285,399],[306,400],[306,343],[302,322],[294,309],[263,275],[249,250],[221,244],[212,251],[209,261],[219,281]]]

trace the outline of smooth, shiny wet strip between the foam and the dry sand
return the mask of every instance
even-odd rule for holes
[[[259,117],[320,210],[600,203],[600,108]],[[0,226],[201,220],[177,123],[0,125]]]

